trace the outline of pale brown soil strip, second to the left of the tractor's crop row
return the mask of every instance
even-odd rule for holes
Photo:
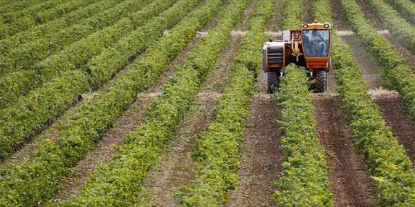
[[[240,36],[232,37],[214,71],[201,85],[194,107],[196,112],[187,117],[173,138],[174,141],[163,153],[160,164],[152,170],[147,184],[152,195],[152,206],[178,206],[172,198],[174,188],[187,184],[194,177],[192,159],[189,157],[195,150],[194,137],[205,130],[214,118],[214,105],[228,82],[230,67],[234,63],[241,39]]]

